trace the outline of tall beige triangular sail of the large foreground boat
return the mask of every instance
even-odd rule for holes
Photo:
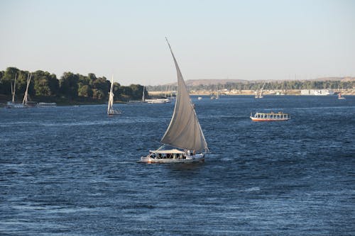
[[[195,113],[195,108],[191,103],[190,95],[182,78],[178,62],[175,59],[169,42],[168,45],[178,74],[178,95],[175,101],[173,117],[170,120],[170,125],[165,131],[161,142],[166,145],[187,150],[208,150],[207,142],[204,139],[199,120]]]

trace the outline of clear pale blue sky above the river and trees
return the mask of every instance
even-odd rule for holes
[[[355,1],[1,0],[0,70],[123,85],[355,76]]]

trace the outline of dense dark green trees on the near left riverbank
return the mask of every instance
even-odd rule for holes
[[[11,84],[16,77],[17,101],[22,99],[26,90],[27,77],[31,74],[28,95],[35,101],[107,101],[111,82],[106,77],[96,77],[89,73],[87,76],[65,72],[60,79],[55,74],[37,70],[23,71],[16,67],[8,67],[0,71],[0,94],[11,96]],[[138,100],[142,98],[143,86],[131,84],[121,86],[114,82],[114,99],[118,101]],[[147,91],[146,91],[147,95]]]

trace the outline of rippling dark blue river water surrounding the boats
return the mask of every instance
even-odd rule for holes
[[[355,96],[192,100],[203,164],[136,163],[173,104],[1,108],[0,235],[355,235]]]

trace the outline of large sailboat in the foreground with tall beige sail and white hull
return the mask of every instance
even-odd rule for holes
[[[175,101],[173,117],[168,129],[160,142],[163,143],[158,150],[151,150],[140,162],[146,163],[187,163],[204,162],[209,152],[207,142],[197,118],[195,108],[191,102],[189,92],[182,77],[178,62],[170,47],[171,55],[178,74],[178,94]],[[173,148],[166,148],[173,147]]]

